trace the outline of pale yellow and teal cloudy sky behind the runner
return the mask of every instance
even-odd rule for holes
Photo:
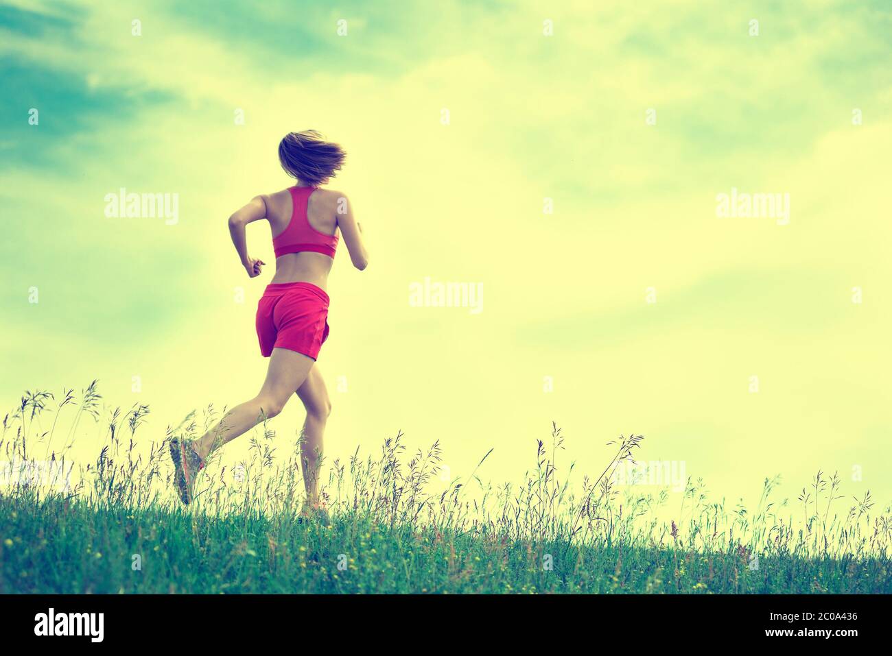
[[[822,470],[888,504],[890,31],[827,0],[0,3],[0,399],[99,379],[161,440],[251,398],[272,266],[227,217],[315,128],[371,255],[329,280],[327,458],[401,430],[518,481],[557,422],[576,481],[634,433],[716,499]],[[121,189],[176,216],[109,217]]]

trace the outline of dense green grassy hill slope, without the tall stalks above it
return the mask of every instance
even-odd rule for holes
[[[886,559],[570,545],[382,526],[349,512],[206,517],[25,497],[0,504],[0,593],[884,593]]]

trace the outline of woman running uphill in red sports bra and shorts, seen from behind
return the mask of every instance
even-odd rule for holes
[[[258,303],[256,320],[260,353],[269,358],[269,369],[260,393],[235,406],[201,439],[170,440],[175,478],[185,504],[192,501],[195,478],[211,451],[264,418],[275,417],[296,392],[307,410],[301,442],[307,490],[304,512],[325,512],[318,499],[318,461],[331,402],[316,358],[328,336],[326,280],[339,230],[353,266],[360,271],[368,266],[362,231],[347,197],[318,186],[342,167],[344,156],[341,146],[326,142],[316,130],[286,135],[279,143],[279,161],[297,184],[255,196],[229,217],[235,250],[252,278],[260,275],[265,263],[248,255],[245,225],[267,219],[272,230],[276,275]]]

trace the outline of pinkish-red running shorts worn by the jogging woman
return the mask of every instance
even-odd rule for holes
[[[314,360],[328,338],[328,294],[312,283],[275,283],[257,304],[260,353],[287,348]]]

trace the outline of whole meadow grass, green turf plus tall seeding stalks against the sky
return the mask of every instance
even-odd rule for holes
[[[728,511],[688,480],[674,510],[665,491],[615,485],[640,436],[615,440],[598,478],[574,488],[553,426],[519,484],[474,472],[434,493],[439,446],[408,456],[400,434],[375,457],[327,467],[332,520],[321,525],[299,517],[298,445],[278,457],[266,424],[244,438],[244,462],[212,460],[184,508],[166,445],[136,438],[147,414],[103,406],[94,381],[79,398],[26,393],[4,417],[0,451],[14,466],[0,487],[0,593],[892,592],[892,509],[874,512],[867,494],[840,513],[836,475],[819,472],[795,510],[765,480],[754,512]],[[103,446],[64,488],[58,474],[91,421]],[[196,432],[190,416],[168,438]]]

